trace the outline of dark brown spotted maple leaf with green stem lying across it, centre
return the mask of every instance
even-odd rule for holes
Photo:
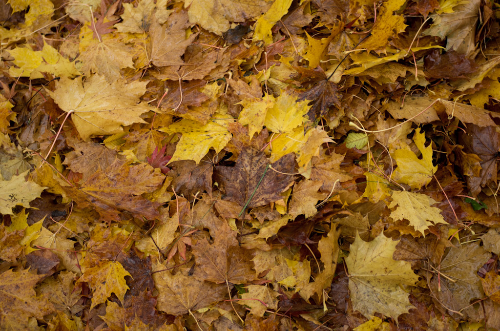
[[[215,180],[224,191],[224,199],[248,208],[254,208],[281,198],[279,195],[292,182],[293,154],[286,154],[272,163],[273,171],[264,152],[256,148],[241,151],[235,166],[216,166]],[[279,171],[279,172],[277,172]],[[264,174],[265,172],[265,174]]]

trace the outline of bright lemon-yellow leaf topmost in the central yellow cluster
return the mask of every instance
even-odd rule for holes
[[[276,133],[293,130],[307,121],[307,118],[303,117],[310,108],[307,103],[309,103],[309,100],[297,102],[295,95],[281,91],[281,94],[276,97],[272,108],[267,110],[264,125],[271,132]]]

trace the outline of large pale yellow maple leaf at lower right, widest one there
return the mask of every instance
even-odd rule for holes
[[[349,291],[352,307],[365,317],[375,312],[397,320],[413,306],[408,292],[401,285],[412,286],[418,280],[409,262],[392,258],[396,244],[380,233],[370,242],[363,241],[359,234],[350,245],[345,264],[349,272]]]

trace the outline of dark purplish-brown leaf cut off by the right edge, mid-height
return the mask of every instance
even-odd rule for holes
[[[467,187],[475,197],[481,189],[493,183],[496,189],[496,157],[500,150],[500,137],[494,126],[481,127],[467,124],[466,133],[458,131],[458,143],[463,145],[463,151],[479,156],[481,171],[479,176],[467,176]]]

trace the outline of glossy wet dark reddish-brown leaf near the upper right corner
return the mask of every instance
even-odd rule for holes
[[[441,54],[434,49],[425,56],[423,63],[425,75],[436,78],[461,78],[477,69],[472,59],[452,50]]]

